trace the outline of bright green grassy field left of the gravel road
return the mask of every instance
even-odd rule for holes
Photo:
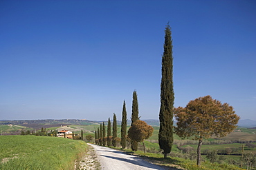
[[[0,169],[74,169],[86,151],[82,140],[46,136],[0,136]]]

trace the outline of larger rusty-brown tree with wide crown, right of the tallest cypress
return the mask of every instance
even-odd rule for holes
[[[174,109],[177,126],[175,133],[181,138],[193,137],[199,140],[197,147],[197,165],[200,165],[201,145],[203,139],[215,135],[223,137],[237,126],[239,116],[228,103],[221,104],[211,96],[190,100],[186,107]]]

